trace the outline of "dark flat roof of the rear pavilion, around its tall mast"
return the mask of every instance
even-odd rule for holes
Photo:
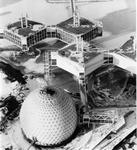
[[[69,18],[68,20],[65,20],[59,24],[57,24],[57,27],[62,28],[63,30],[74,33],[74,34],[84,34],[85,32],[88,32],[94,28],[94,23],[89,21],[86,18],[80,17],[80,26],[74,27],[73,26],[73,17]]]

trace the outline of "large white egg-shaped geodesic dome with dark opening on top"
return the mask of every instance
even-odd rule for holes
[[[31,92],[20,111],[25,136],[37,145],[51,146],[67,140],[75,131],[77,114],[72,98],[63,89],[43,87]]]

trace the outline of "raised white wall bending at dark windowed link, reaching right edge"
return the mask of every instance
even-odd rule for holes
[[[136,61],[117,53],[102,53],[86,64],[86,75],[105,64],[113,64],[132,74],[136,74]]]

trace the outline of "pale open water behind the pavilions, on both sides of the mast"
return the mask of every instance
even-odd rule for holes
[[[109,13],[122,9],[130,9],[134,5],[129,0],[113,0],[89,4],[78,4],[81,16],[89,19],[102,18]],[[132,0],[134,1],[134,0]],[[3,2],[3,3],[2,3]],[[10,11],[10,14],[0,16],[3,26],[28,13],[29,17],[45,24],[56,24],[71,16],[68,4],[49,4],[46,0],[0,0],[0,13]]]

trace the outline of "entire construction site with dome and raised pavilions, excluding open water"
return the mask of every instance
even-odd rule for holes
[[[45,25],[26,13],[0,31],[0,150],[136,150],[136,37],[104,49],[84,0],[47,3],[71,16]]]

